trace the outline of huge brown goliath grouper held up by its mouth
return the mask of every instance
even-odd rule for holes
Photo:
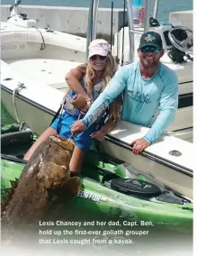
[[[78,193],[80,178],[71,177],[69,171],[74,148],[72,140],[60,136],[40,144],[4,197],[2,224],[37,225],[50,215],[57,198],[63,203]]]

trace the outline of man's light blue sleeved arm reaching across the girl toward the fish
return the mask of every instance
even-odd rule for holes
[[[121,94],[127,85],[127,72],[128,70],[125,70],[125,67],[116,71],[111,82],[103,90],[103,93],[97,97],[93,105],[91,105],[90,109],[85,114],[85,117],[82,119],[82,122],[85,123],[85,129],[92,125],[103,113],[103,110]]]

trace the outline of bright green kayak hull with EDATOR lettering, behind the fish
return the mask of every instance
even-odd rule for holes
[[[94,162],[94,165],[90,162]],[[20,178],[25,163],[2,159],[1,165],[1,183],[4,191],[4,188],[11,187],[10,180]],[[157,200],[157,197],[132,197],[106,187],[103,178],[109,173],[116,175],[119,165],[118,160],[109,160],[94,151],[88,153],[82,171],[80,191],[76,197],[64,203],[68,215],[85,218],[105,216],[130,222],[137,221],[145,225],[163,225],[175,230],[192,231],[192,202],[166,203]]]

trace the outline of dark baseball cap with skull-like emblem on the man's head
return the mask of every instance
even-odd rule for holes
[[[163,43],[160,34],[157,32],[145,32],[142,34],[139,43],[139,50],[145,46],[154,46],[157,50],[163,49]]]

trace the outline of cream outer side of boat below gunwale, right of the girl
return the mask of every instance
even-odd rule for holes
[[[131,150],[113,144],[112,141],[107,139],[102,143],[100,150],[116,159],[131,164],[136,169],[143,170],[143,172],[156,178],[167,187],[175,189],[182,195],[193,198],[193,176],[184,175],[184,173],[175,169],[172,171],[172,168],[142,155],[136,156]]]

